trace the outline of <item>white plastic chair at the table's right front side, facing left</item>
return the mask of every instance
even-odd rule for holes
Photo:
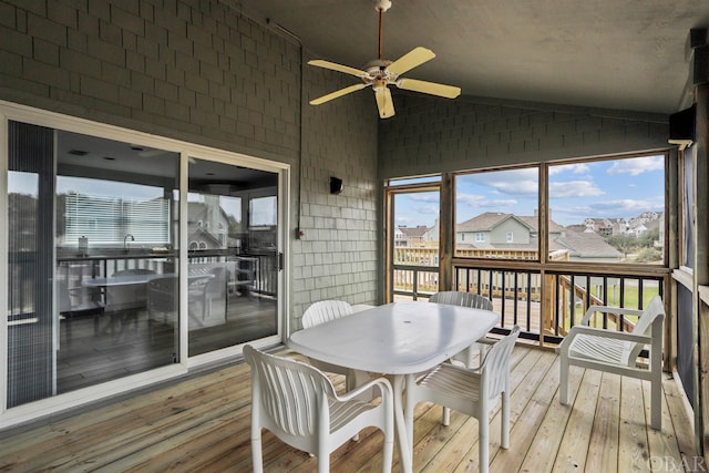
[[[432,401],[477,419],[481,473],[486,473],[489,470],[490,411],[495,405],[492,401],[500,394],[502,394],[500,445],[503,449],[510,448],[510,356],[518,335],[520,327],[514,326],[508,336],[489,350],[480,368],[470,369],[442,363],[413,385],[407,385],[407,404],[412,402],[415,407],[421,401]],[[409,439],[413,440],[411,431]]]

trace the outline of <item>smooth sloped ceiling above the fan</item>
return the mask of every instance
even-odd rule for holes
[[[377,58],[372,0],[224,0],[361,68]],[[392,0],[383,56],[435,52],[407,78],[463,95],[671,113],[686,99],[689,29],[707,0]],[[352,78],[352,83],[357,79]],[[443,100],[443,99],[442,99]]]

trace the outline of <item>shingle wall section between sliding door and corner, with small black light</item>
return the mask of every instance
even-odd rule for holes
[[[306,66],[306,83],[305,102],[352,81]],[[306,236],[292,244],[296,317],[316,300],[378,300],[377,116],[373,94],[367,90],[319,106],[304,105],[308,140],[302,150],[300,228]],[[343,181],[339,195],[330,194],[331,176]]]

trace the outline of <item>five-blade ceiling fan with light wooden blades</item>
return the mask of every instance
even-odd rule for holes
[[[381,40],[382,40],[382,20],[384,11],[391,7],[391,0],[374,0],[374,9],[379,12],[379,54],[378,59],[364,64],[363,69],[354,69],[348,65],[337,64],[335,62],[323,61],[320,59],[308,61],[308,64],[316,65],[318,68],[330,69],[332,71],[343,72],[346,74],[354,75],[362,80],[361,84],[350,85],[349,88],[340,89],[321,97],[310,101],[310,105],[320,105],[321,103],[329,102],[332,99],[347,95],[349,93],[359,91],[369,85],[374,91],[374,99],[377,99],[377,107],[379,109],[379,116],[382,119],[389,119],[394,115],[394,104],[391,100],[391,91],[388,85],[395,85],[399,89],[408,91],[423,92],[431,95],[439,95],[446,99],[455,99],[461,94],[461,89],[452,85],[438,84],[435,82],[419,81],[415,79],[400,79],[399,76],[411,69],[423,64],[427,61],[435,58],[433,51],[425,48],[414,48],[395,61],[382,59],[381,56]]]

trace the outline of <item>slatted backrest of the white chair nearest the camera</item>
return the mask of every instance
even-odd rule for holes
[[[289,435],[317,435],[328,398],[336,397],[328,377],[309,364],[264,353],[250,345],[244,347],[244,358],[251,367],[251,409],[257,410],[261,426]]]

